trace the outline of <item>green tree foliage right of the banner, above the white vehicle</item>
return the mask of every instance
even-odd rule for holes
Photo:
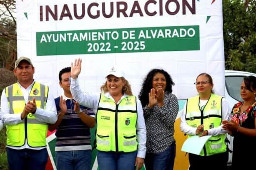
[[[223,0],[225,68],[256,73],[256,0]]]

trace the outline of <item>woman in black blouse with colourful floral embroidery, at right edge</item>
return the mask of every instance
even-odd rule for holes
[[[233,106],[230,121],[223,128],[234,136],[232,170],[254,170],[256,158],[256,77],[246,76],[241,83],[243,102]]]

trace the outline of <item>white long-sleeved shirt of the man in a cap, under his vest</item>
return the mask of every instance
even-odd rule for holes
[[[30,91],[33,87],[35,81],[33,81],[30,86],[28,86],[27,89],[25,89],[23,86],[21,86],[18,82],[18,85],[20,86],[20,89],[23,93],[25,103],[28,103],[28,96],[30,94]],[[25,106],[25,105],[24,105]],[[48,91],[48,99],[45,104],[45,109],[43,108],[36,108],[35,114],[33,114],[35,118],[38,121],[45,122],[45,123],[55,123],[57,121],[57,112],[56,112],[56,106],[55,106],[55,101],[53,98],[52,93],[50,92],[50,88]],[[0,117],[4,125],[16,125],[18,123],[24,122],[24,120],[21,119],[21,113],[18,114],[11,114],[10,113],[10,107],[8,105],[8,100],[5,94],[5,89],[2,92],[1,96],[1,111],[0,111]],[[30,147],[27,143],[27,140],[25,141],[25,145],[16,147],[16,146],[7,146],[8,148],[13,148],[13,149],[34,149],[34,150],[40,150],[46,147]]]

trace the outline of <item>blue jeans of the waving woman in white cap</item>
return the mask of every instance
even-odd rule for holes
[[[103,152],[98,150],[97,159],[100,170],[135,170],[135,152]]]

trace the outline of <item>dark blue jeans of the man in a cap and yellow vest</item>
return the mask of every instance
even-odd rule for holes
[[[7,159],[9,170],[45,170],[48,153],[46,148],[41,150],[7,148]]]

